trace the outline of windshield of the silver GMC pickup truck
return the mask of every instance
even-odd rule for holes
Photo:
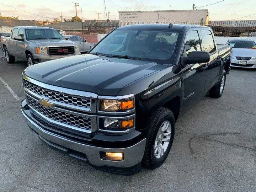
[[[25,30],[27,40],[32,39],[64,39],[64,37],[54,29],[27,29]]]

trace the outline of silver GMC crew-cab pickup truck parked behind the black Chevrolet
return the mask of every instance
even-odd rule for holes
[[[27,60],[28,66],[52,59],[80,54],[79,45],[66,41],[54,28],[14,27],[11,37],[1,37],[7,63],[15,58]]]

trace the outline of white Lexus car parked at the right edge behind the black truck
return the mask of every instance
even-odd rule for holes
[[[252,39],[233,38],[226,44],[232,47],[231,67],[256,68],[256,44]]]

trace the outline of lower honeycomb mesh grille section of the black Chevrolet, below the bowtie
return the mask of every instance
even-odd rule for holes
[[[75,126],[82,129],[91,129],[91,118],[78,116],[75,114],[65,113],[52,108],[45,108],[41,103],[34,101],[32,98],[27,97],[28,105],[38,113],[44,116],[70,126]]]

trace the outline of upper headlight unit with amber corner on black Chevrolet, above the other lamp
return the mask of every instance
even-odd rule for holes
[[[134,108],[134,100],[118,101],[118,100],[100,100],[100,111],[118,112],[127,111]]]

